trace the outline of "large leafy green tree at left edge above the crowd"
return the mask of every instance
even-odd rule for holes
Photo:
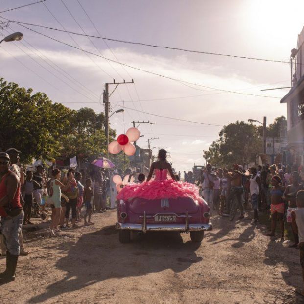
[[[21,159],[51,160],[59,155],[59,139],[67,131],[72,111],[52,103],[46,94],[0,78],[0,149],[15,147]]]

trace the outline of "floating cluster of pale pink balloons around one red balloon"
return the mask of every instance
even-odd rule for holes
[[[126,134],[120,134],[117,140],[109,144],[109,152],[118,154],[121,150],[128,156],[135,154],[135,146],[131,143],[140,138],[140,131],[138,128],[130,128]]]

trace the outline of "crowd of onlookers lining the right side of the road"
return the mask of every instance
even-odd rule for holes
[[[226,217],[231,214],[231,204],[237,202],[243,220],[244,210],[249,202],[253,210],[251,224],[259,222],[259,212],[271,215],[271,232],[275,237],[276,226],[280,225],[280,240],[285,241],[285,228],[292,230],[294,243],[289,248],[300,252],[300,263],[304,281],[304,167],[290,167],[281,164],[264,164],[247,170],[234,164],[231,168],[214,168],[207,164],[198,182],[192,172],[184,172],[185,181],[197,184],[202,189],[202,197],[210,207],[210,213],[217,210]],[[289,243],[289,241],[286,241]],[[296,290],[304,296],[303,290]]]

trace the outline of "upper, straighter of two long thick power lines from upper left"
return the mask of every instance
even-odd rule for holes
[[[78,3],[79,3],[79,1],[78,1]],[[146,43],[141,43],[141,42],[133,42],[133,41],[126,41],[126,40],[120,40],[120,39],[101,37],[100,34],[99,34],[100,36],[87,35],[87,34],[81,34],[81,33],[66,31],[66,30],[63,31],[63,30],[58,29],[58,28],[48,27],[48,26],[44,26],[44,25],[25,23],[25,22],[15,21],[15,20],[10,20],[10,21],[11,22],[17,22],[17,23],[22,23],[22,24],[26,24],[26,25],[31,25],[31,26],[37,26],[37,27],[47,28],[47,29],[51,29],[51,30],[55,30],[55,31],[60,31],[60,32],[67,32],[67,33],[70,33],[70,34],[73,34],[73,35],[78,35],[78,36],[87,36],[87,37],[92,37],[92,38],[98,38],[98,39],[109,40],[109,41],[114,41],[114,42],[121,42],[121,43],[127,43],[127,44],[133,44],[133,45],[140,45],[140,46],[145,46],[145,47],[166,48],[166,49],[180,50],[180,51],[184,51],[184,52],[198,53],[198,54],[205,54],[205,55],[216,55],[216,56],[225,56],[225,57],[233,57],[233,58],[241,58],[241,59],[250,59],[250,60],[258,60],[258,61],[267,61],[267,62],[277,62],[277,63],[287,63],[287,64],[290,64],[289,61],[283,61],[283,60],[274,60],[274,59],[265,59],[265,58],[257,58],[257,57],[248,57],[248,56],[238,56],[238,55],[229,55],[229,54],[221,54],[221,53],[212,53],[212,52],[191,50],[191,49],[180,48],[180,47],[165,47],[165,46],[158,46],[158,45],[146,44]]]

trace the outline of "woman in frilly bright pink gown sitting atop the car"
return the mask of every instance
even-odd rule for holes
[[[135,197],[148,200],[154,199],[176,199],[178,197],[192,197],[194,200],[202,201],[199,196],[198,187],[189,183],[176,180],[171,164],[166,160],[167,152],[161,149],[158,161],[150,168],[147,181],[142,184],[127,184],[117,195],[117,199],[128,200]],[[153,173],[154,180],[151,180]],[[168,179],[171,177],[171,179]]]

